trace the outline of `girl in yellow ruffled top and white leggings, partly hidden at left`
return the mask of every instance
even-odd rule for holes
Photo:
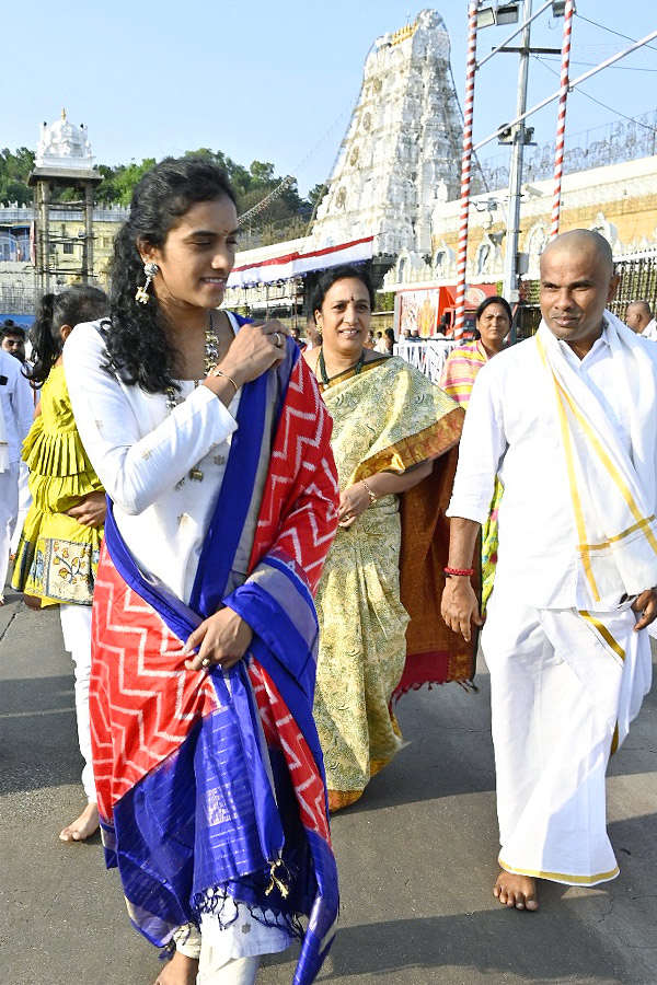
[[[64,374],[62,349],[79,322],[107,312],[97,288],[80,285],[45,294],[31,331],[36,358],[31,380],[42,386],[23,444],[32,506],[16,552],[12,584],[31,609],[59,605],[64,645],[76,665],[76,716],[88,804],[59,837],[81,842],[99,826],[91,765],[89,676],[91,602],[105,520],[105,494],[80,441]]]

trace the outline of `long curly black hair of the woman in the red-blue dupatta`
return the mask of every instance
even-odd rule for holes
[[[104,332],[103,369],[146,393],[175,386],[176,351],[166,336],[166,318],[154,293],[148,304],[135,299],[143,283],[137,244],[162,247],[169,232],[196,202],[237,197],[228,177],[203,158],[165,158],[147,172],[132,193],[130,216],[114,241],[110,324]]]

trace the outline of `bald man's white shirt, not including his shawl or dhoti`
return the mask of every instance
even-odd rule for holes
[[[560,345],[632,457],[629,396],[604,335],[583,360]],[[657,347],[646,341],[644,348],[657,368]],[[484,523],[498,473],[505,491],[496,580],[510,579],[529,605],[581,609],[589,600],[576,563],[573,505],[551,387],[533,339],[482,367],[468,405],[447,514]],[[654,461],[657,470],[657,448]]]

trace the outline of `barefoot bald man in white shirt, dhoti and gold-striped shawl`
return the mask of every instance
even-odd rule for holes
[[[495,476],[499,552],[482,633],[491,671],[500,903],[537,878],[596,885],[619,867],[604,774],[650,686],[657,615],[657,346],[606,304],[611,250],[573,230],[541,257],[537,335],[477,375],[448,515],[448,571],[473,564]],[[466,573],[447,624],[481,624]]]

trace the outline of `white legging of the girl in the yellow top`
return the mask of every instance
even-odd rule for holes
[[[89,679],[91,676],[91,605],[60,605],[64,647],[73,658],[76,672],[76,718],[78,742],[84,760],[82,786],[90,803],[95,803],[89,721]]]

